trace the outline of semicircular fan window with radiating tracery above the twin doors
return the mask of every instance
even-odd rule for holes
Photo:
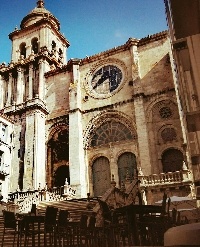
[[[109,142],[119,142],[133,139],[131,131],[122,123],[115,120],[102,124],[95,130],[91,146],[99,146]]]

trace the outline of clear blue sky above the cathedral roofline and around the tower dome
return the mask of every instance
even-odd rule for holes
[[[0,63],[10,62],[8,34],[37,0],[0,0]],[[45,0],[70,42],[67,58],[84,58],[167,29],[163,0]]]

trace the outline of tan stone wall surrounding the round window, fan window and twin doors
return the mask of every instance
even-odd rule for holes
[[[82,104],[80,104],[80,111],[82,113],[80,125],[84,133],[83,147],[86,150],[79,150],[83,152],[85,157],[79,166],[88,167],[89,191],[91,193],[93,191],[92,164],[97,157],[105,156],[109,159],[111,174],[114,175],[117,186],[119,186],[117,161],[123,152],[134,153],[137,158],[137,165],[142,168],[144,174],[150,175],[162,172],[161,156],[164,150],[167,148],[178,148],[183,151],[181,148],[182,139],[180,122],[178,120],[178,108],[173,90],[171,65],[168,56],[169,48],[169,41],[165,37],[159,41],[147,42],[147,44],[139,46],[138,61],[135,61],[130,51],[127,50],[109,55],[106,58],[103,55],[102,57],[99,55],[98,60],[94,59],[95,61],[85,62],[80,66],[82,98]],[[134,55],[136,56],[137,52]],[[134,61],[135,64],[133,63]],[[92,73],[106,63],[114,63],[121,66],[124,73],[124,81],[120,90],[116,90],[114,95],[98,97],[98,95],[90,91],[89,83]],[[133,67],[137,70],[135,74],[132,71]],[[132,80],[133,86],[129,84]],[[141,93],[141,95],[137,93]],[[73,98],[71,99],[73,100]],[[158,120],[156,118],[152,119],[152,117],[150,119],[149,115],[155,114],[152,110],[154,105],[163,100],[168,102],[170,99],[173,99],[173,117],[170,120]],[[132,128],[137,133],[137,138],[133,141],[109,143],[87,149],[86,143],[88,143],[90,138],[90,128],[95,127],[98,121],[101,122],[100,119],[103,117],[103,112],[106,113],[108,111],[117,113],[119,119],[123,113],[131,121]],[[177,130],[177,139],[175,141],[166,144],[163,140],[160,140],[159,131],[164,128],[163,126],[173,126]],[[71,162],[73,162],[73,159],[72,156]],[[75,163],[79,170],[78,162]],[[82,176],[85,175],[83,174]]]

